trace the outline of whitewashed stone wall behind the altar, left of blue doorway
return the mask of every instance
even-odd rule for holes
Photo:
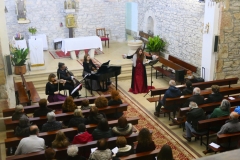
[[[53,39],[68,38],[64,0],[26,0],[27,19],[31,21],[29,24],[17,23],[15,0],[5,0],[5,4],[8,9],[6,20],[10,40],[18,32],[28,37],[29,27],[36,27],[37,33],[48,36],[50,49],[53,48]],[[80,0],[75,15],[75,37],[96,35],[96,28],[104,27],[110,33],[111,40],[125,40],[125,1]],[[63,27],[60,27],[61,22]]]

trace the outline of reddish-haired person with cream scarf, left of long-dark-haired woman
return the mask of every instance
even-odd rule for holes
[[[127,140],[124,136],[117,138],[116,145],[118,147],[118,152],[115,155],[116,157],[123,157],[134,154],[133,146],[127,144]]]

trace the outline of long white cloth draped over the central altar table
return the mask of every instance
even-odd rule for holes
[[[62,40],[62,51],[66,54],[68,51],[96,49],[102,51],[102,41],[98,36],[66,38]]]

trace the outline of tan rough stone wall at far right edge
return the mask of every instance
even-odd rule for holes
[[[240,1],[227,0],[222,11],[216,79],[240,76]]]

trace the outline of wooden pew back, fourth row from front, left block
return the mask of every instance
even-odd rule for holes
[[[127,139],[127,142],[129,144],[137,141],[137,136],[138,133],[133,133],[129,136],[125,136]],[[117,137],[112,137],[112,138],[108,138],[108,148],[113,149],[114,147],[116,147],[116,140]],[[85,152],[89,152],[91,148],[95,148],[97,144],[97,141],[92,141],[92,142],[88,142],[86,144],[77,144],[78,147],[78,153],[85,153]],[[55,149],[56,151],[56,155],[55,158],[56,159],[65,159],[67,157],[67,152],[66,152],[67,148],[63,148],[63,149]],[[44,157],[44,151],[40,151],[40,152],[36,152],[36,153],[29,153],[29,154],[25,154],[25,155],[17,155],[17,156],[11,156],[11,157],[7,157],[6,160],[43,160],[45,159]]]

